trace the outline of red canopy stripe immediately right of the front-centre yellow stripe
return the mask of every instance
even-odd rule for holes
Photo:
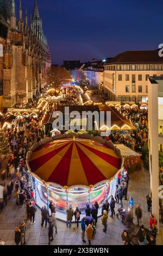
[[[99,180],[105,180],[106,177],[100,172],[95,164],[91,162],[82,149],[80,149],[77,144],[76,147],[89,185],[96,184]]]

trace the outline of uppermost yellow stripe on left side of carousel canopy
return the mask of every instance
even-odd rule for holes
[[[49,153],[49,152],[51,152],[51,151],[53,151],[53,150],[55,150],[55,149],[58,149],[58,148],[62,147],[63,145],[66,145],[66,144],[68,144],[68,143],[70,143],[70,141],[64,142],[64,143],[58,143],[58,142],[57,142],[57,143],[54,143],[54,142],[53,142],[53,144],[51,145],[51,147],[42,148],[42,149],[40,149],[40,150],[38,150],[38,151],[34,151],[34,152],[32,153],[32,156],[30,157],[30,161],[35,160],[35,159],[39,158],[40,156],[44,156],[44,155],[46,155],[47,153]]]

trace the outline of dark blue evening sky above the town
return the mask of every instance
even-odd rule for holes
[[[17,7],[18,7],[18,0]],[[37,0],[52,63],[151,50],[163,42],[160,0]],[[34,0],[22,0],[32,13]]]

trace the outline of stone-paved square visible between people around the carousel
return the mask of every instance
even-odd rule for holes
[[[142,224],[149,228],[149,215],[147,211],[146,195],[149,192],[149,174],[147,170],[142,169],[139,172],[130,174],[128,197],[131,195],[134,198],[134,208],[136,204],[140,204],[142,208]],[[124,201],[124,208],[127,209],[127,201]],[[116,208],[119,206],[116,204]],[[0,239],[5,241],[6,245],[15,245],[14,228],[20,222],[26,219],[26,205],[22,209],[17,209],[15,198],[8,200],[7,206],[0,214]],[[136,219],[134,218],[134,223]],[[92,245],[122,245],[121,234],[125,229],[121,219],[108,217],[108,229],[106,234],[103,232],[101,218],[98,219],[95,238],[92,240]],[[161,227],[160,234],[157,236],[157,245],[163,245],[163,229]],[[27,222],[26,231],[27,245],[48,245],[48,228],[41,227],[41,212],[36,211],[36,223],[30,225]],[[88,242],[86,242],[86,245]],[[64,222],[58,221],[58,234],[54,232],[54,241],[51,245],[83,245],[81,239],[81,228],[76,228],[72,224],[71,228],[66,228]]]

